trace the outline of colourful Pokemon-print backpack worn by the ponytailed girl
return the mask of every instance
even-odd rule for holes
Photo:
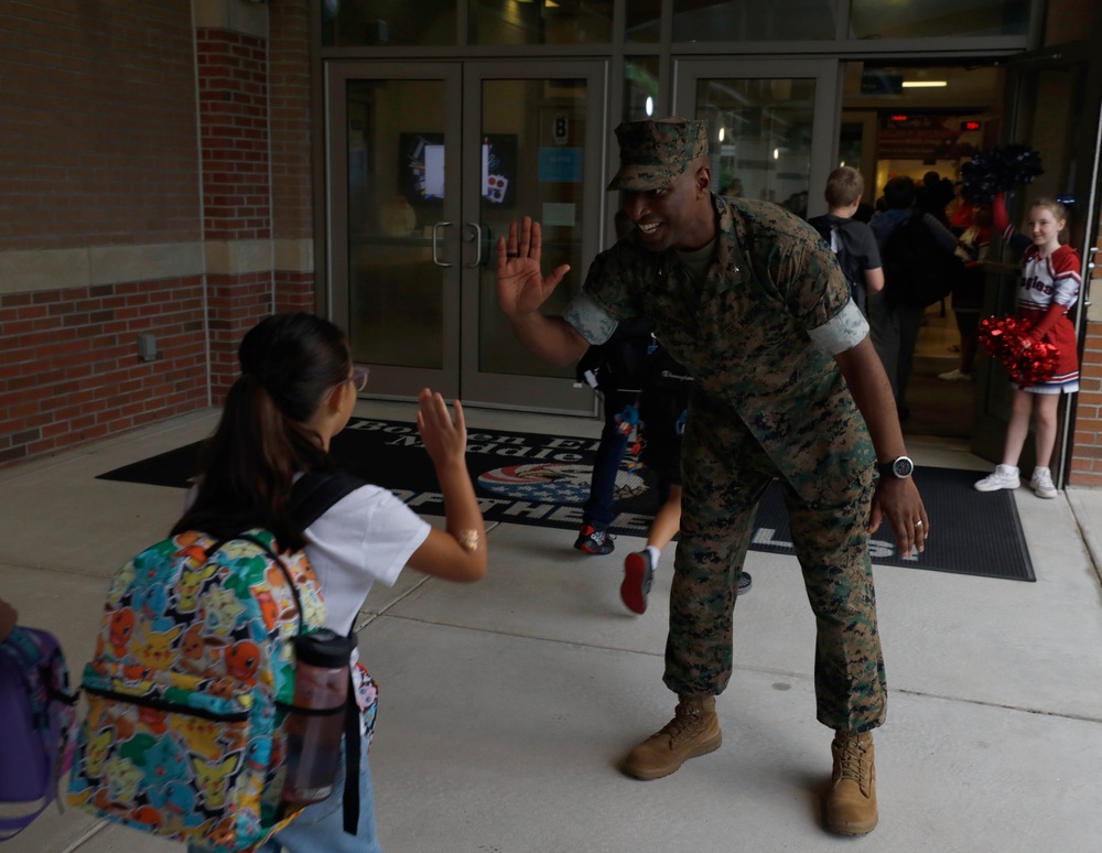
[[[309,527],[359,485],[309,474],[292,511]],[[111,580],[84,670],[69,802],[218,853],[261,844],[296,813],[280,803],[292,640],[324,618],[305,553],[281,555],[266,530],[139,553]]]

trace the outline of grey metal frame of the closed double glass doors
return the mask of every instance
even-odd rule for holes
[[[349,317],[349,239],[348,162],[347,162],[347,84],[364,79],[387,80],[442,80],[445,87],[444,127],[456,129],[458,144],[449,144],[444,151],[444,170],[447,175],[466,175],[472,152],[482,147],[482,83],[488,79],[586,79],[585,121],[587,139],[583,143],[582,202],[586,222],[594,227],[581,235],[581,257],[586,263],[604,248],[605,219],[605,145],[608,104],[608,61],[594,60],[536,60],[515,61],[443,60],[439,62],[389,62],[382,60],[339,60],[324,64],[324,128],[325,128],[325,253],[324,304],[328,315],[338,322]],[[474,173],[477,172],[475,168]],[[462,397],[471,406],[504,408],[548,413],[593,417],[596,400],[590,389],[579,389],[573,376],[542,377],[482,372],[479,355],[479,290],[480,276],[496,266],[496,245],[483,247],[483,266],[473,266],[475,245],[467,239],[469,223],[480,212],[480,182],[460,181],[458,192],[445,193],[440,220],[452,224],[447,235],[447,261],[452,266],[436,269],[443,287],[444,364],[440,370],[387,366],[386,371],[375,371],[366,397],[378,399],[412,400],[417,389],[429,385],[441,389],[445,396]],[[539,219],[539,210],[517,210]],[[452,236],[458,238],[456,241]],[[441,241],[443,242],[443,240]],[[491,241],[496,242],[496,241]],[[451,257],[454,255],[454,257]],[[548,272],[548,270],[544,270]],[[572,270],[571,282],[560,287],[581,289],[584,269]]]

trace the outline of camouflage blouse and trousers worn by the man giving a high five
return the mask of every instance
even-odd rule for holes
[[[875,453],[838,366],[808,335],[847,305],[849,288],[793,215],[749,199],[712,204],[716,255],[703,290],[674,251],[656,255],[631,236],[597,256],[583,287],[614,320],[651,317],[696,379],[665,681],[679,695],[727,685],[735,581],[758,500],[778,477],[818,623],[819,720],[864,732],[886,701],[867,549]],[[584,298],[566,320],[601,334]],[[850,334],[864,331],[853,322]]]

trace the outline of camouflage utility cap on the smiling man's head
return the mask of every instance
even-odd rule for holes
[[[625,121],[616,128],[616,139],[620,143],[620,170],[608,188],[629,193],[667,186],[684,174],[693,160],[707,153],[707,126],[703,121]]]

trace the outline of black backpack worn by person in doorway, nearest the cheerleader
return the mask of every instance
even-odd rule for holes
[[[888,301],[926,307],[946,299],[964,271],[957,256],[938,242],[915,210],[884,244],[884,293]]]

